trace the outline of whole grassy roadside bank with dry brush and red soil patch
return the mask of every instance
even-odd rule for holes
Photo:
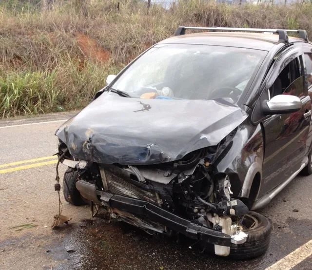
[[[107,75],[178,25],[306,29],[312,39],[312,4],[181,0],[165,10],[136,0],[58,0],[42,10],[39,1],[0,0],[0,117],[82,108]]]

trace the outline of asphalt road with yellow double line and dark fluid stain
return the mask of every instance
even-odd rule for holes
[[[254,260],[208,255],[185,238],[152,237],[104,214],[90,219],[88,207],[62,197],[71,221],[52,230],[54,132],[70,115],[0,121],[0,270],[312,270],[312,176],[296,177],[260,211],[273,231],[268,252]],[[35,227],[12,228],[25,224]]]

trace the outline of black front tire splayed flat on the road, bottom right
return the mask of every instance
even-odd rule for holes
[[[251,216],[257,221],[257,224],[252,229],[244,230],[248,234],[244,244],[232,244],[230,255],[227,258],[234,260],[246,260],[263,255],[269,247],[271,223],[263,215],[256,212],[248,212],[246,216]],[[215,253],[215,246],[206,244],[206,249],[210,253]]]

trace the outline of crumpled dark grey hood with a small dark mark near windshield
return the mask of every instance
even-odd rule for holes
[[[231,99],[140,99],[104,92],[56,135],[78,159],[147,165],[216,145],[246,118]]]

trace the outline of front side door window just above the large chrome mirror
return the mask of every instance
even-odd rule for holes
[[[270,88],[271,97],[277,95],[304,95],[304,79],[299,58],[293,59],[278,75]]]

